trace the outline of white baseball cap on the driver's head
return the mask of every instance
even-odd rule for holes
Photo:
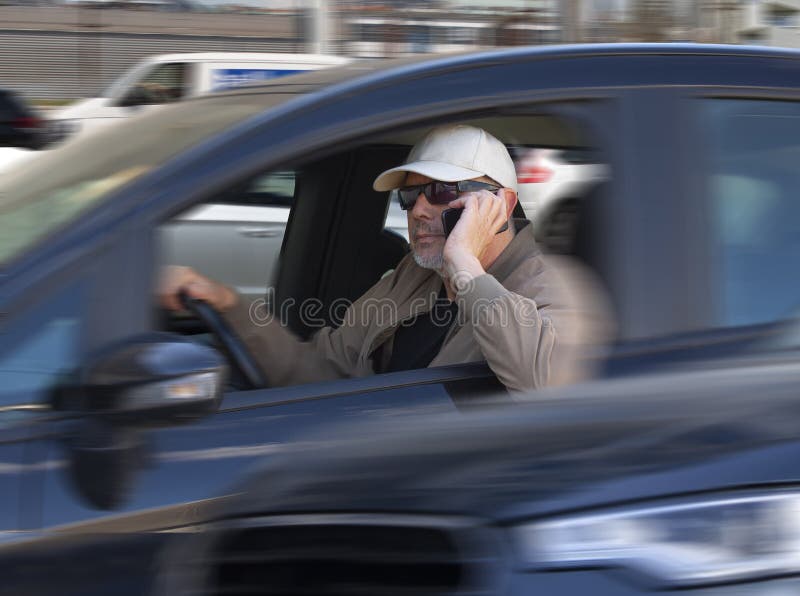
[[[455,124],[439,126],[414,145],[406,162],[375,178],[377,191],[400,188],[414,172],[442,182],[488,176],[504,188],[517,190],[517,171],[506,146],[481,128]]]

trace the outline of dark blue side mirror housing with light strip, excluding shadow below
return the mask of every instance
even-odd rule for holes
[[[166,333],[137,336],[93,356],[53,406],[115,426],[179,424],[216,411],[225,374],[208,346]]]

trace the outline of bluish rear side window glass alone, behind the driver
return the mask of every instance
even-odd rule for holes
[[[790,316],[800,306],[800,103],[714,100],[703,112],[718,324]]]

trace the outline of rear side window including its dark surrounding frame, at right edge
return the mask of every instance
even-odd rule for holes
[[[800,92],[701,89],[686,104],[702,151],[692,219],[707,335],[749,338],[764,358],[796,358]]]

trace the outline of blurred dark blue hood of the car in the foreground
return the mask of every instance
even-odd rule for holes
[[[675,486],[792,479],[798,381],[791,364],[650,375],[340,427],[255,470],[222,515],[408,511],[508,521]]]

